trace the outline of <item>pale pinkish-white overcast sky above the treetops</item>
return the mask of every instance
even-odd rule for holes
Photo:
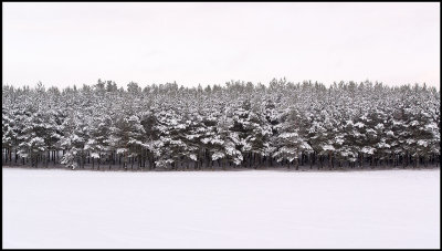
[[[2,3],[3,80],[440,84],[440,3]],[[439,87],[438,87],[439,88]]]

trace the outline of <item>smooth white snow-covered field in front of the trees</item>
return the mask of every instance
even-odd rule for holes
[[[2,168],[3,248],[440,248],[440,170]]]

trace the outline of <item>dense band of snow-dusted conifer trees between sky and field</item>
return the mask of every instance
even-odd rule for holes
[[[440,163],[440,92],[382,83],[2,86],[2,164],[200,170]]]

